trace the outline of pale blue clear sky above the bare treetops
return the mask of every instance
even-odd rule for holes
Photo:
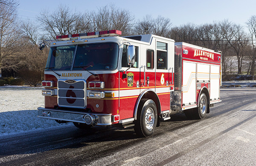
[[[97,8],[113,3],[128,9],[135,19],[146,14],[156,18],[161,15],[171,19],[172,26],[186,23],[196,25],[228,19],[245,26],[252,15],[256,15],[256,0],[20,0],[18,14],[22,20],[36,20],[43,9],[50,12],[60,4],[72,11],[96,11]]]

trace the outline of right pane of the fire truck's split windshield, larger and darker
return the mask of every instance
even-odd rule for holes
[[[77,46],[73,70],[113,70],[117,68],[117,43],[93,43]]]

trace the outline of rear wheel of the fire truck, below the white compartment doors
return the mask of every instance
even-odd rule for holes
[[[195,108],[194,115],[196,119],[203,119],[207,113],[207,97],[204,93],[201,93],[198,100],[198,108]]]

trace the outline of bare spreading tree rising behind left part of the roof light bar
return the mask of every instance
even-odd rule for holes
[[[38,21],[48,36],[55,39],[58,35],[84,33],[92,30],[91,13],[72,13],[68,6],[60,5],[58,10],[50,13],[41,11]]]

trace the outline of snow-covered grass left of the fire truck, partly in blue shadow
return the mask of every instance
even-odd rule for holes
[[[44,107],[41,89],[28,86],[0,86],[0,137],[67,125],[37,117],[37,108]]]

